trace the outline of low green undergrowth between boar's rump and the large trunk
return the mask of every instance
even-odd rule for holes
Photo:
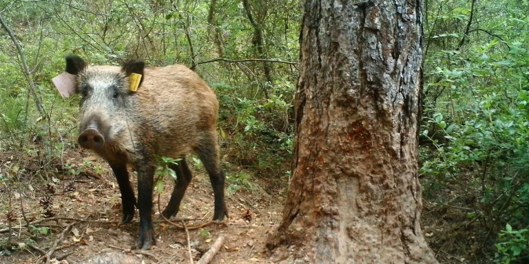
[[[229,157],[236,164],[261,173],[279,175],[291,156],[293,141],[293,93],[287,80],[271,87],[269,98],[252,99],[246,91],[216,84],[220,104],[221,132],[230,144]]]

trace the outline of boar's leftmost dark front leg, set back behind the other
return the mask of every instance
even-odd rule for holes
[[[121,210],[123,213],[121,221],[123,223],[129,223],[134,218],[134,206],[136,205],[136,197],[134,197],[134,191],[130,186],[127,164],[111,163],[110,168],[112,168],[112,171],[114,171],[114,175],[116,175],[119,190],[121,191]]]

